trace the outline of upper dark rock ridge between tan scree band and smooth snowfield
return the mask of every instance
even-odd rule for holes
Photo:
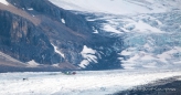
[[[50,3],[47,0],[8,0],[12,4],[15,3],[15,7],[24,9],[26,12],[32,14],[42,14],[51,18],[54,21],[62,22],[62,19],[65,20],[65,25],[73,31],[79,33],[91,33],[93,30],[87,24],[81,15],[74,14],[66,10],[63,10],[54,4]],[[43,2],[43,3],[42,3]],[[81,24],[81,25],[79,25]]]

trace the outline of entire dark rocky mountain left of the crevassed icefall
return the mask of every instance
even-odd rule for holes
[[[0,11],[0,51],[22,62],[34,60],[41,64],[67,63],[78,66],[84,60],[81,52],[86,45],[96,50],[97,63],[89,62],[86,70],[119,68],[118,52],[121,40],[94,34],[93,23],[84,15],[61,9],[47,0],[7,0],[18,11],[25,11],[34,20]],[[64,20],[64,22],[63,22]],[[55,53],[53,45],[63,55]]]

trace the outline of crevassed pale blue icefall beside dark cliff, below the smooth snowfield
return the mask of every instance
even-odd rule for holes
[[[123,38],[124,50],[118,53],[118,59],[124,68],[148,68],[181,65],[180,15],[180,10],[177,10],[134,15],[95,14],[86,19],[91,23],[98,23],[102,30],[99,34],[109,33]],[[105,30],[105,25],[120,33]]]

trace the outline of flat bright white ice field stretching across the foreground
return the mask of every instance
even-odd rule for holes
[[[180,76],[181,70],[0,73],[0,95],[106,95],[158,80]],[[23,78],[26,78],[23,81]],[[179,78],[178,78],[179,80]]]

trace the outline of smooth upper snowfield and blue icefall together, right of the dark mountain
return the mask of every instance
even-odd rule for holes
[[[95,34],[124,41],[113,46],[124,68],[181,64],[180,0],[50,0],[82,14]],[[96,50],[95,50],[96,51]],[[82,67],[88,64],[86,59]]]

